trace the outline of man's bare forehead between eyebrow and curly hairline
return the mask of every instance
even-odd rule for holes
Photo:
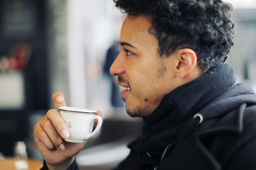
[[[122,25],[120,42],[128,41],[133,45],[158,45],[154,35],[148,32],[152,26],[148,18],[144,16],[127,16]]]

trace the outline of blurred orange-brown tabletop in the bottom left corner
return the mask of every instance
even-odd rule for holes
[[[35,159],[7,157],[0,160],[0,170],[39,170],[43,162]]]

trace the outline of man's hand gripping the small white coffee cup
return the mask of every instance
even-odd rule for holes
[[[56,109],[47,111],[45,117],[35,125],[35,142],[49,170],[67,169],[74,162],[74,155],[83,149],[85,143],[68,143],[63,140],[70,136],[58,111],[60,106],[66,106],[63,94],[52,94],[52,101]],[[101,116],[101,112],[97,111],[96,115]],[[96,125],[95,121],[94,127]]]

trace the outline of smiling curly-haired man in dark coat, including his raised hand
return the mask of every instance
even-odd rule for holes
[[[115,0],[128,13],[110,72],[141,136],[116,169],[256,169],[256,96],[224,64],[233,45],[221,0]],[[65,105],[53,94],[56,108]],[[252,106],[251,106],[252,105]],[[100,112],[98,113],[100,115]],[[66,143],[58,110],[35,126],[43,169],[77,169],[84,143]]]

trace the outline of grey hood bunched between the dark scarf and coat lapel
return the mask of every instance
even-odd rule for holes
[[[244,110],[246,106],[252,104],[256,104],[256,95],[253,90],[243,83],[233,85],[198,111],[204,117],[198,131],[201,131],[201,134],[220,131],[239,133],[243,131]],[[207,130],[203,131],[203,129]]]

